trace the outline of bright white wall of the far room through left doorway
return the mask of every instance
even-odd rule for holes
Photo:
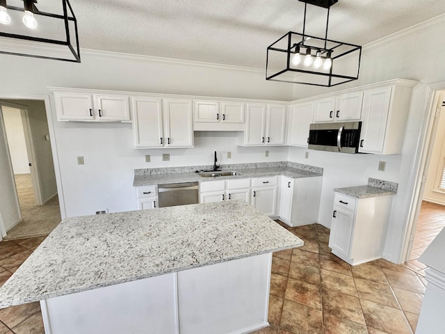
[[[3,120],[5,122],[6,136],[8,137],[11,163],[14,174],[29,174],[28,152],[20,109],[3,106]]]

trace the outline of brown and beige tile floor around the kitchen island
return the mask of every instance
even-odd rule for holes
[[[327,228],[288,228],[305,246],[274,253],[270,327],[254,334],[414,333],[426,287],[425,266],[416,259],[443,225],[445,207],[424,202],[409,262],[376,260],[355,267],[330,253]],[[0,242],[0,286],[43,239]],[[0,310],[0,334],[6,333],[44,333],[40,305]]]

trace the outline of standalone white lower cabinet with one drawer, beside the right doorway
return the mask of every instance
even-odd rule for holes
[[[382,257],[391,201],[392,196],[358,199],[335,193],[332,253],[352,265]]]

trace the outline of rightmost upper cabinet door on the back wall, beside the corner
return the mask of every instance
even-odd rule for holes
[[[282,104],[269,104],[266,118],[266,145],[284,145],[286,106]]]

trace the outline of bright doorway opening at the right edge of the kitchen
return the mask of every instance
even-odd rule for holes
[[[445,90],[437,90],[430,110],[429,138],[421,161],[421,186],[405,261],[425,276],[419,257],[445,226]]]

